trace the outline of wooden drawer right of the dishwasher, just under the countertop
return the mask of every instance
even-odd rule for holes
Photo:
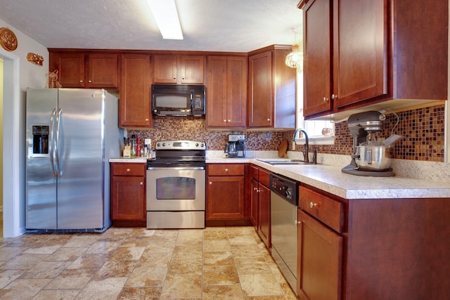
[[[300,186],[298,205],[300,209],[307,211],[308,214],[330,226],[333,230],[338,233],[342,232],[344,205],[341,202]]]

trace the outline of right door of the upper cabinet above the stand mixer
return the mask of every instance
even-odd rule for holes
[[[385,2],[334,1],[332,97],[336,98],[335,107],[387,94]]]

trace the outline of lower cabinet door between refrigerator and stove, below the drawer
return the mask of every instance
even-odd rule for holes
[[[111,181],[111,219],[146,219],[145,184],[142,176],[113,176]]]

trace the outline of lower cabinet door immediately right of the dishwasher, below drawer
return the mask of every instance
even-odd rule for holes
[[[300,299],[340,300],[342,237],[299,211],[297,293]]]

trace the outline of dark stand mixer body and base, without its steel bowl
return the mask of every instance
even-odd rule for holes
[[[352,162],[342,168],[343,173],[375,177],[395,176],[392,169],[383,169],[380,171],[375,169],[369,171],[364,168],[361,169],[355,160],[360,158],[359,146],[371,143],[372,134],[383,130],[384,119],[385,115],[375,110],[360,112],[349,117],[347,123],[349,131],[353,136]]]

